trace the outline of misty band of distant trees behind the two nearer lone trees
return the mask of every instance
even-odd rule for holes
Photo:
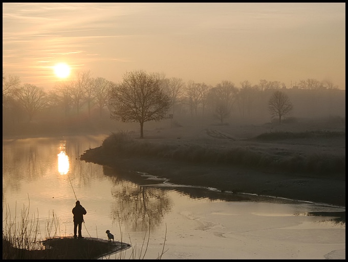
[[[177,77],[167,78],[164,73],[148,75],[156,76],[157,90],[168,98],[169,103],[167,112],[164,113],[163,110],[161,113],[163,118],[147,120],[146,126],[149,128],[203,123],[279,123],[279,115],[275,117],[269,111],[269,100],[275,91],[286,94],[290,99],[293,104],[292,119],[335,116],[345,118],[345,90],[339,90],[329,80],[305,79],[300,81],[301,84],[290,87],[279,81],[266,79],[261,79],[256,84],[248,80],[239,84],[224,80],[211,86],[193,80],[185,82]],[[312,85],[315,88],[309,88],[309,83],[312,82],[319,84]],[[114,108],[110,90],[124,84],[124,81],[113,83],[101,77],[92,77],[92,73],[86,71],[77,72],[71,79],[58,82],[52,90],[45,91],[36,86],[30,91],[28,84],[21,84],[18,77],[3,73],[3,134],[36,134],[39,128],[42,133],[61,134],[68,131],[110,132],[123,129],[124,126],[126,129],[132,126],[129,128],[133,129],[137,123],[140,124],[138,119],[141,118],[134,117],[135,124],[130,123],[130,120],[123,122],[121,118],[111,118]],[[123,101],[127,100],[120,99],[119,102]],[[140,105],[133,103],[134,106]],[[289,116],[290,114],[282,115],[281,122]],[[277,121],[273,122],[274,119]]]

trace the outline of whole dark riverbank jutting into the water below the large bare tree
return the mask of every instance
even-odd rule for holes
[[[225,127],[225,130],[221,128],[219,130],[202,129],[200,132],[196,130],[191,134],[187,130],[181,134],[164,133],[148,133],[145,139],[133,139],[132,144],[124,145],[125,148],[122,149],[124,150],[122,152],[119,151],[120,147],[116,149],[117,146],[114,143],[117,142],[112,142],[111,138],[105,139],[102,146],[85,151],[80,159],[110,166],[120,171],[147,172],[158,178],[166,178],[173,184],[212,187],[223,192],[254,193],[345,207],[345,131],[344,135],[337,135],[338,133],[328,135],[328,133],[326,137],[297,136],[296,138],[278,138],[266,141],[236,139],[235,136],[228,133],[228,127]],[[202,152],[197,151],[198,145],[200,145],[199,148],[204,148],[203,151],[201,150]],[[194,155],[200,157],[192,161],[189,159],[184,161],[182,157],[185,158],[185,155],[180,151],[182,148],[185,148],[186,153],[189,151],[186,158],[192,158]],[[230,164],[228,161],[224,163],[217,160],[205,161],[202,157],[207,156],[209,151],[209,159],[211,159],[216,152],[224,150],[226,157],[228,155],[226,148],[239,150],[236,155],[249,158],[250,161],[247,159],[247,164],[238,165]],[[241,151],[246,148],[246,152]],[[118,153],[116,153],[117,151]],[[178,157],[180,154],[181,158]],[[159,155],[161,157],[158,157]],[[255,162],[255,156],[258,155],[271,155],[270,162],[277,159],[278,162],[284,164],[295,163],[287,160],[289,156],[301,156],[305,161],[307,161],[306,159],[313,161],[314,164],[308,162],[307,165],[313,167],[314,171],[299,172],[296,171],[297,167],[291,167],[295,171],[291,171],[290,167],[289,171],[286,170],[287,167],[282,170],[267,166],[257,168],[253,161]],[[319,155],[322,158],[318,158]],[[314,160],[313,156],[316,156]],[[328,158],[332,159],[327,165],[325,163]],[[336,163],[337,159],[344,162],[344,172],[325,171],[320,174],[315,172],[317,170],[315,168],[324,169],[324,167],[330,166],[330,163]],[[257,161],[267,162],[263,158]],[[273,163],[271,164],[273,165]]]

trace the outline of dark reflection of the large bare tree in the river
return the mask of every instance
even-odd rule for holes
[[[146,231],[160,225],[163,216],[171,211],[172,203],[166,191],[137,185],[124,178],[124,172],[112,168],[104,166],[103,172],[114,183],[113,222],[123,223],[130,231]]]

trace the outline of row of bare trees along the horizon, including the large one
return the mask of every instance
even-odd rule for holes
[[[143,137],[145,122],[176,115],[211,116],[221,124],[231,114],[248,117],[265,95],[271,117],[281,121],[293,109],[289,96],[283,92],[286,86],[279,81],[262,79],[252,85],[246,80],[236,86],[223,80],[211,86],[143,70],[127,72],[122,77],[121,82],[114,83],[82,71],[73,80],[62,80],[46,92],[33,84],[21,84],[19,77],[6,76],[3,71],[3,126],[29,123],[42,112],[62,120],[80,115],[101,119],[106,115],[122,122],[139,123]],[[293,89],[338,90],[330,81],[315,79],[301,80]]]

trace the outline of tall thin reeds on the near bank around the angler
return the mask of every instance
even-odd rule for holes
[[[103,255],[108,252],[110,253],[110,250],[112,250],[109,243],[89,239],[85,239],[86,241],[81,242],[76,241],[76,239],[73,238],[58,236],[60,226],[59,220],[54,211],[52,211],[52,217],[49,215],[45,223],[45,239],[39,237],[41,234],[38,210],[37,214],[34,213],[32,216],[30,216],[29,195],[28,202],[28,207],[24,206],[23,209],[20,210],[19,215],[17,215],[17,207],[15,207],[15,213],[12,215],[10,207],[7,204],[3,194],[3,259],[111,258],[111,255]],[[120,250],[116,253],[112,252],[115,253],[115,257],[112,259],[125,259],[127,257],[129,259],[145,258],[145,254],[150,243],[150,225],[148,232],[145,233],[144,241],[140,248],[130,245],[130,255],[128,255],[127,249],[124,248],[129,246],[129,244],[123,243],[122,231],[120,235]],[[130,237],[129,241],[132,243]],[[166,236],[163,244],[163,250],[157,259],[161,258],[164,254],[165,241]]]

